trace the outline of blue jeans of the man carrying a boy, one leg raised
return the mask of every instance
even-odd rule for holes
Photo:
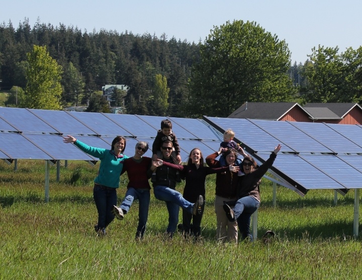
[[[165,186],[153,187],[153,193],[155,198],[166,202],[166,207],[168,211],[168,226],[166,232],[170,236],[172,236],[173,233],[176,231],[178,223],[179,207],[182,207],[189,213],[193,213],[194,203],[191,203],[184,199],[182,194],[180,194],[179,192]]]

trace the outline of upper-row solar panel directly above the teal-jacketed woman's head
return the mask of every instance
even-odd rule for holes
[[[133,136],[113,121],[110,121],[106,116],[100,113],[91,112],[69,112],[74,118],[92,129],[97,135],[122,135]]]

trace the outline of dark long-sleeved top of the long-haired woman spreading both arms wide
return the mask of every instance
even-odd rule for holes
[[[228,166],[210,168],[200,165],[199,168],[196,168],[195,164],[175,165],[167,162],[163,162],[163,165],[177,169],[180,171],[182,176],[185,176],[186,184],[184,189],[184,198],[190,202],[196,201],[199,195],[202,195],[205,199],[205,180],[207,175],[229,171]]]

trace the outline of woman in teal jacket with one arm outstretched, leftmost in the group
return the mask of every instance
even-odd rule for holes
[[[90,147],[71,135],[63,139],[64,143],[73,143],[84,153],[101,160],[98,176],[94,180],[93,198],[98,211],[97,235],[105,235],[106,227],[113,221],[113,205],[117,205],[117,192],[126,149],[126,138],[117,136],[112,141],[111,150]]]

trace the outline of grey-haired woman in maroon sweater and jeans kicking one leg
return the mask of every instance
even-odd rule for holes
[[[128,185],[125,199],[122,201],[120,207],[113,206],[112,213],[117,219],[123,220],[124,214],[127,214],[133,201],[138,199],[138,226],[136,231],[136,238],[142,239],[146,229],[148,218],[148,207],[150,203],[150,185],[147,171],[151,167],[152,159],[143,157],[143,154],[148,150],[146,142],[138,142],[136,144],[135,155],[123,161],[123,169],[121,175],[127,172]]]

